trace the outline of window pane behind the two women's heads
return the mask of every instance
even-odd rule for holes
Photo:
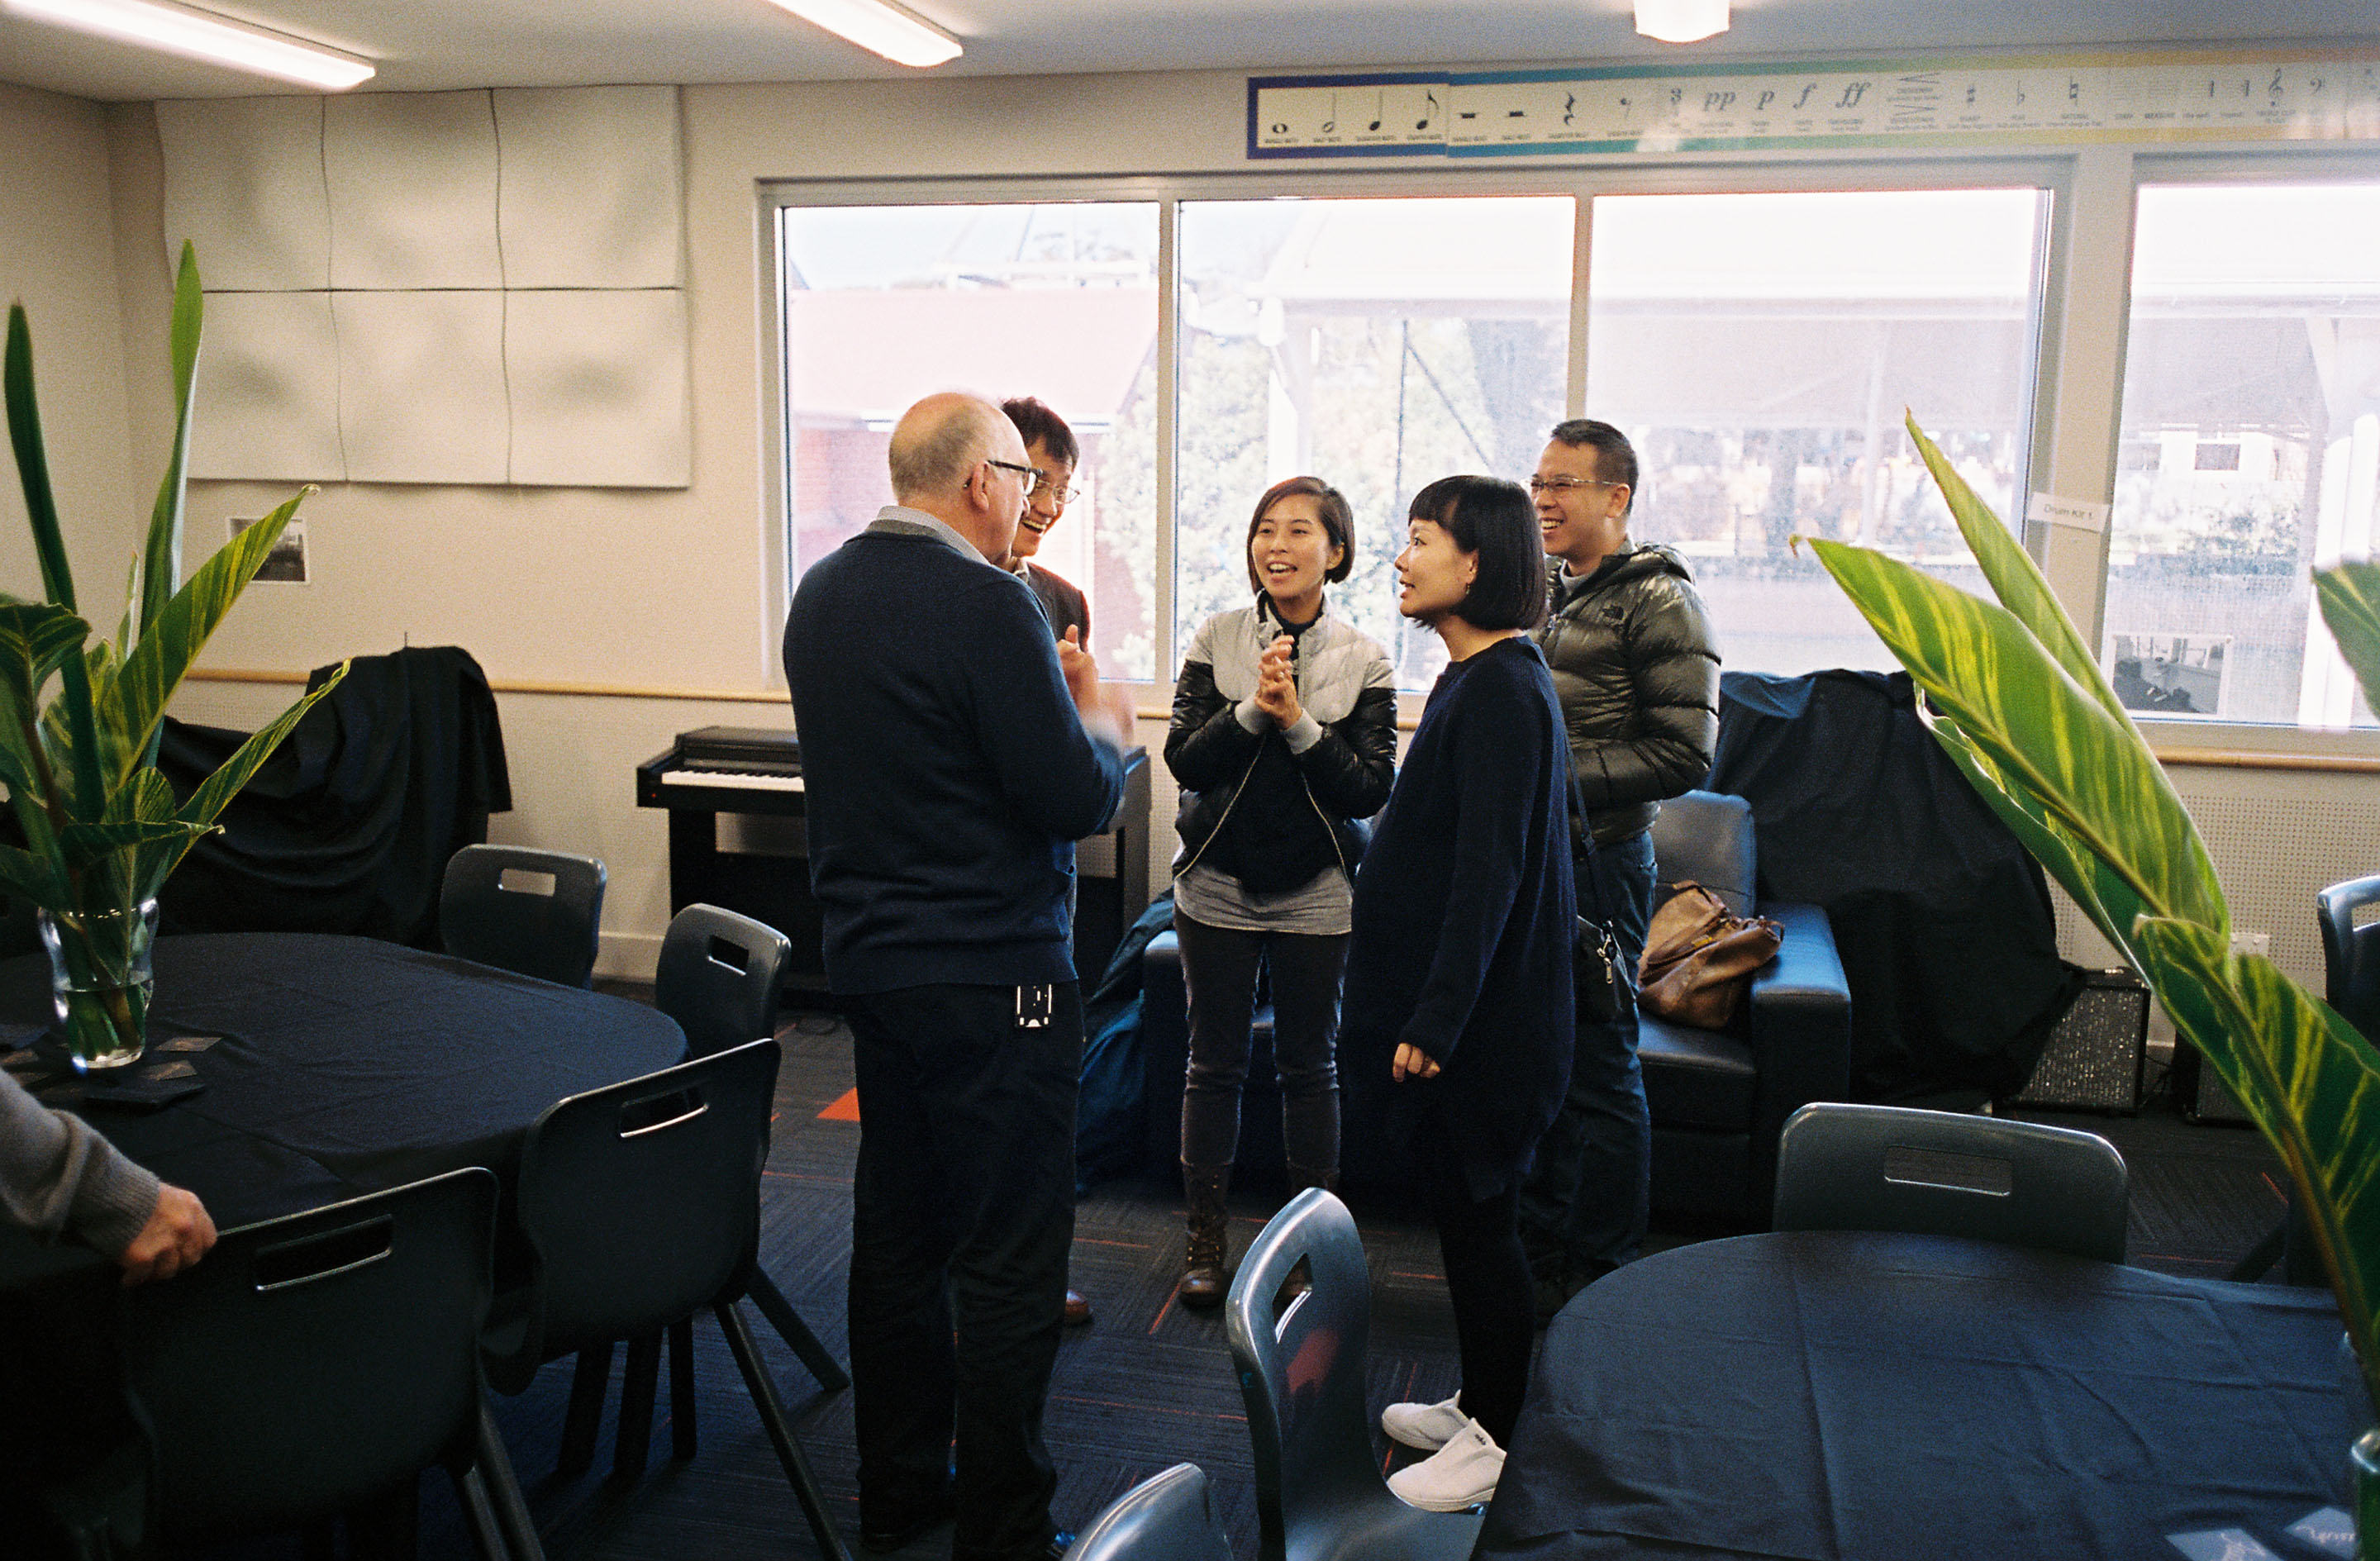
[[[1176,645],[1250,600],[1264,490],[1354,507],[1338,612],[1404,688],[1445,664],[1397,616],[1404,507],[1440,476],[1528,476],[1561,419],[1576,205],[1557,198],[1200,200],[1180,207]]]

